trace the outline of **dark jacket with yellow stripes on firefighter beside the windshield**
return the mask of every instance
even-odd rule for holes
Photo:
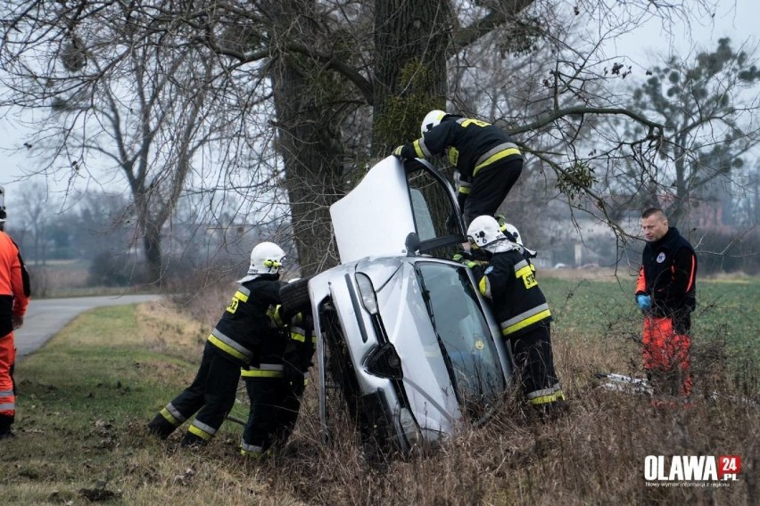
[[[474,269],[478,288],[491,298],[501,334],[519,336],[541,322],[550,322],[551,313],[535,277],[535,266],[520,252],[511,249],[494,253],[488,266]]]

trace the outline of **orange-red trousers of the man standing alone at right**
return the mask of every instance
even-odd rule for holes
[[[656,391],[690,395],[690,348],[690,337],[673,331],[672,318],[644,318],[644,369]]]

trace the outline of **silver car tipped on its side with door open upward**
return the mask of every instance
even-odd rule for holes
[[[511,356],[470,270],[444,259],[465,241],[455,210],[434,167],[394,157],[330,208],[341,265],[308,282],[324,437],[334,388],[366,440],[402,453],[500,404]]]

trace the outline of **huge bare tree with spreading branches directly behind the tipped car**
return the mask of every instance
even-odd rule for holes
[[[698,2],[700,7],[710,4],[710,0]],[[157,110],[164,114],[159,117],[166,118],[167,125],[181,124],[180,112],[193,117],[188,112],[200,103],[196,118],[227,126],[225,135],[206,135],[212,131],[208,126],[188,130],[184,138],[189,141],[184,143],[181,136],[179,141],[169,135],[161,142],[152,140],[157,148],[154,153],[184,146],[171,164],[162,166],[165,173],[160,180],[184,181],[182,167],[188,166],[186,160],[193,160],[194,148],[199,149],[199,141],[204,140],[213,143],[216,151],[210,152],[224,153],[215,158],[224,162],[219,184],[204,183],[205,191],[243,192],[255,186],[257,197],[246,195],[258,199],[252,204],[261,204],[265,192],[259,192],[259,185],[268,185],[268,194],[278,194],[277,183],[282,182],[287,201],[273,197],[268,203],[289,207],[304,274],[335,262],[329,204],[357,180],[370,156],[383,155],[393,144],[416,137],[419,118],[431,108],[451,102],[458,110],[496,120],[521,138],[525,151],[541,160],[541,171],[545,168],[551,173],[546,184],[555,185],[571,206],[577,205],[581,196],[590,198],[611,223],[615,220],[607,213],[605,195],[595,188],[599,175],[594,164],[604,159],[610,170],[620,170],[622,166],[615,160],[632,156],[624,152],[626,148],[656,151],[664,137],[659,119],[627,107],[619,94],[610,91],[609,83],[624,78],[630,69],[600,54],[602,40],[652,15],[648,11],[651,3],[646,0],[625,0],[614,6],[583,3],[576,5],[574,12],[555,9],[558,4],[549,0],[424,0],[413,5],[379,0],[227,0],[213,4],[135,0],[128,5],[71,4],[53,7],[53,11],[47,11],[49,4],[39,0],[17,0],[10,5],[6,9],[12,15],[4,24],[0,62],[12,76],[37,86],[38,76],[56,75],[52,64],[48,63],[44,72],[22,68],[23,57],[29,52],[36,61],[40,54],[55,56],[43,61],[67,61],[76,72],[95,68],[88,64],[87,52],[93,53],[91,48],[100,45],[96,44],[98,38],[81,27],[90,20],[102,24],[98,17],[111,12],[108,20],[120,31],[105,35],[111,46],[116,41],[123,51],[118,58],[103,59],[98,71],[87,74],[89,82],[102,81],[120,69],[127,54],[142,49],[153,78],[160,81],[161,76],[171,76],[165,86],[181,83],[171,88],[175,90],[173,100],[166,94],[156,100]],[[657,5],[655,15],[687,19],[692,8],[693,3],[671,2]],[[60,14],[61,10],[66,14]],[[95,29],[98,22],[89,26]],[[601,27],[599,33],[584,34],[582,43],[570,37],[573,30],[556,29],[568,23],[578,29],[591,22]],[[107,47],[104,40],[101,44]],[[81,47],[87,52],[79,51]],[[216,55],[216,60],[207,59],[206,51]],[[541,51],[548,53],[535,58]],[[171,58],[164,56],[167,52]],[[172,70],[170,62],[183,61],[182,54],[192,56],[186,65],[180,65],[181,71]],[[492,65],[482,67],[486,61]],[[206,63],[202,62],[208,62],[211,74],[204,74]],[[531,63],[533,73],[523,71],[526,62]],[[505,71],[509,79],[499,85],[499,76],[503,78]],[[183,80],[186,74],[192,74],[192,79]],[[206,87],[211,83],[213,86]],[[54,84],[38,86],[31,97],[28,90],[16,86],[18,93],[12,96],[23,95],[29,98],[26,103],[39,105],[62,90],[79,93],[78,87],[65,79]],[[178,95],[180,89],[196,93]],[[185,102],[178,105],[178,96],[185,97]],[[212,102],[219,107],[216,115],[210,112]],[[171,107],[175,112],[166,114]],[[599,119],[610,116],[639,123],[643,129],[613,139]],[[367,118],[372,118],[371,122]],[[103,122],[97,124],[101,125]],[[80,121],[76,127],[70,124],[68,131],[81,132],[87,126]],[[605,140],[604,149],[582,153],[592,135]],[[235,140],[232,148],[225,145],[230,139]],[[277,151],[270,151],[270,146]],[[152,162],[151,167],[159,167],[156,159]],[[251,184],[246,184],[244,175],[250,176]],[[135,188],[145,196],[158,193],[156,185]],[[137,208],[143,207],[140,203]],[[161,212],[159,208],[155,216],[165,216],[170,209]],[[153,221],[161,223],[160,219]],[[148,231],[147,222],[141,223],[146,236],[155,237],[160,230],[153,226]]]

